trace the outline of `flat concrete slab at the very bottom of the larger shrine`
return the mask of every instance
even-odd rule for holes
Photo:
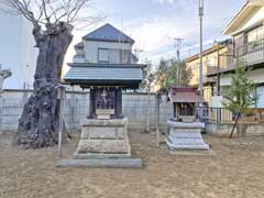
[[[62,160],[57,167],[112,167],[112,168],[141,168],[141,158],[89,158],[89,160]]]

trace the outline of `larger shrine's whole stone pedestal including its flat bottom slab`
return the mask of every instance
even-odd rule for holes
[[[142,167],[141,158],[131,156],[128,119],[86,120],[73,158],[58,166]]]

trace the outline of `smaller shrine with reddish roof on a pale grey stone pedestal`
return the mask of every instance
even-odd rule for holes
[[[205,103],[204,98],[194,88],[172,87],[168,99],[174,106],[174,118],[168,120],[167,146],[170,150],[209,150],[201,136],[205,123],[196,119],[196,107]]]

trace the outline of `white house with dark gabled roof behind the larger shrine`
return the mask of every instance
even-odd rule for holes
[[[132,53],[134,41],[112,26],[106,24],[85,35],[75,45],[74,63],[134,64],[138,58]]]

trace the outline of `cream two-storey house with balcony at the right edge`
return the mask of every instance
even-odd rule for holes
[[[235,66],[244,65],[249,77],[257,86],[256,108],[264,108],[264,1],[249,0],[223,29],[223,34],[232,37],[232,48],[219,55],[227,65],[220,65],[219,72],[207,77],[219,76],[221,95],[224,95]]]

